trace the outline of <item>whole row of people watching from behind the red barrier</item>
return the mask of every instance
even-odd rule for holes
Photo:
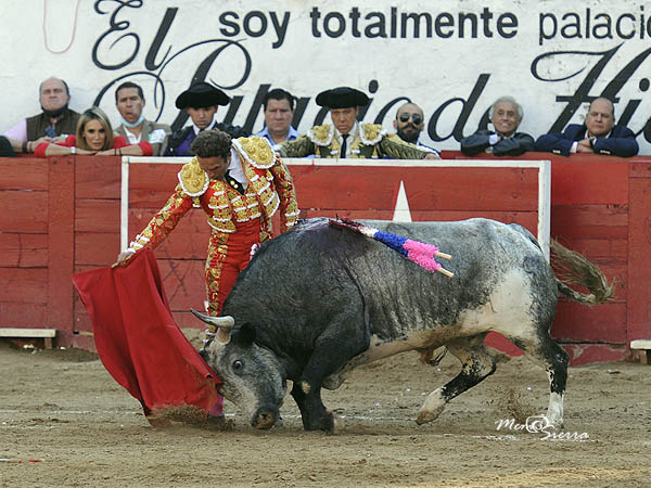
[[[81,121],[79,114],[68,107],[69,89],[62,79],[44,80],[39,87],[39,99],[41,114],[21,120],[0,137],[0,156],[11,156],[15,152],[34,152],[38,156],[187,156],[191,154],[190,144],[202,130],[220,129],[234,138],[248,136],[239,126],[217,121],[218,107],[228,105],[230,98],[204,81],[193,84],[177,98],[177,108],[187,114],[180,120],[190,117],[191,124],[174,132],[168,125],[144,118],[144,94],[133,82],[122,84],[115,91],[120,114],[116,137],[108,118],[98,107],[86,111],[87,117]],[[359,90],[349,87],[326,90],[317,95],[316,102],[329,110],[332,125],[315,126],[301,136],[291,125],[295,98],[282,89],[269,91],[263,103],[265,128],[255,136],[266,138],[281,155],[289,157],[439,158],[436,150],[419,141],[425,124],[422,108],[414,103],[398,107],[393,123],[394,134],[387,133],[381,125],[358,121],[359,107],[369,103],[369,98]],[[480,129],[462,139],[463,154],[474,156],[486,152],[496,156],[518,156],[526,151],[545,151],[565,156],[578,152],[627,157],[639,151],[635,133],[626,127],[615,126],[614,105],[604,98],[592,101],[585,124],[572,124],[564,132],[544,134],[537,141],[527,133],[518,132],[523,110],[512,97],[496,100],[488,111],[488,118],[494,130]],[[87,127],[89,121],[90,129]],[[100,133],[103,134],[101,143]]]

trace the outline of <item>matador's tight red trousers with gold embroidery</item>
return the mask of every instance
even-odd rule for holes
[[[213,232],[206,258],[206,295],[208,297],[208,314],[218,316],[226,297],[235,284],[235,280],[252,256],[252,248],[260,243],[260,219],[247,222],[235,222],[235,232],[228,235]],[[224,414],[224,398],[210,409],[210,415]]]

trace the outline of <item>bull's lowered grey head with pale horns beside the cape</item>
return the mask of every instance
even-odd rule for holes
[[[192,313],[217,328],[200,354],[224,382],[221,395],[242,408],[255,428],[273,426],[286,393],[276,355],[255,344],[251,324],[235,328],[232,317]]]

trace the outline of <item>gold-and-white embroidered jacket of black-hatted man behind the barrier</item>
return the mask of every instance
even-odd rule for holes
[[[334,126],[315,126],[294,141],[280,144],[283,157],[339,157],[341,146],[334,137]],[[350,141],[350,157],[388,157],[390,159],[422,159],[433,153],[430,149],[403,141],[395,133],[387,133],[381,125],[359,124],[358,134]]]

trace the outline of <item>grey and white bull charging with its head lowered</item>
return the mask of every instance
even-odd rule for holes
[[[559,291],[587,305],[612,295],[598,268],[580,270],[591,292],[586,295],[556,277],[536,239],[518,224],[368,223],[454,254],[446,267],[455,277],[425,271],[328,219],[302,222],[260,247],[221,317],[193,310],[217,328],[201,355],[224,381],[224,397],[254,427],[269,428],[280,418],[290,380],[304,428],[333,432],[341,420],[323,406],[321,388],[336,389],[355,367],[408,350],[435,363],[433,351],[445,346],[461,371],[426,397],[417,416],[424,424],[495,372],[484,338],[497,332],[547,371],[547,418],[562,425],[567,355],[549,329]]]

